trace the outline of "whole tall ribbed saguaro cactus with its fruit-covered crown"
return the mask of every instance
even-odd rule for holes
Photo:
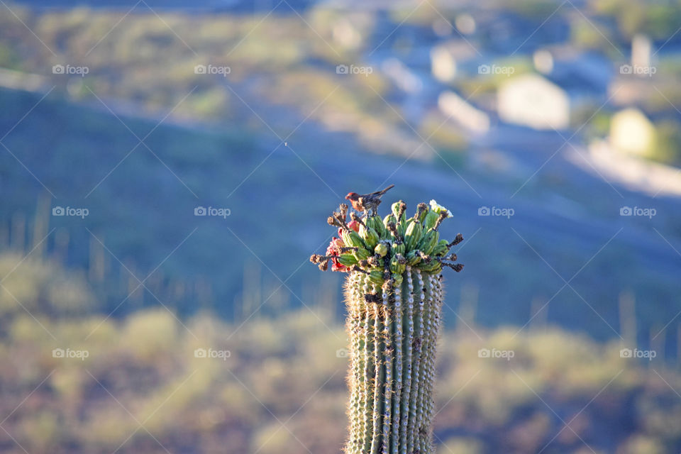
[[[433,382],[443,303],[442,269],[460,271],[453,245],[439,238],[450,211],[431,200],[405,215],[392,205],[381,219],[348,206],[328,218],[338,227],[326,255],[311,262],[347,272],[346,328],[350,337],[350,434],[347,454],[431,454]]]

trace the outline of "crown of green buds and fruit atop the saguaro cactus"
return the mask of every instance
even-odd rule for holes
[[[444,206],[431,200],[418,205],[414,216],[406,217],[406,204],[400,200],[392,204],[392,213],[381,218],[365,211],[360,217],[341,204],[327,221],[338,227],[338,237],[328,245],[326,255],[314,254],[310,261],[326,271],[365,273],[374,284],[399,284],[409,265],[428,274],[439,274],[444,266],[459,272],[463,265],[455,263],[453,245],[463,241],[458,235],[452,241],[440,239],[438,227],[452,214]]]

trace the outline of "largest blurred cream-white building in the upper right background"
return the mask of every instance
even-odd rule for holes
[[[570,126],[570,96],[539,74],[522,74],[499,87],[499,118],[534,129]]]

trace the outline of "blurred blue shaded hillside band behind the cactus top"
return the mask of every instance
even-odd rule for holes
[[[258,306],[309,306],[314,302],[309,287],[320,277],[307,258],[326,248],[333,233],[323,223],[329,209],[345,189],[371,188],[389,177],[397,184],[392,194],[396,199],[414,207],[418,194],[433,196],[457,218],[448,227],[451,233],[460,231],[472,239],[461,250],[467,269],[451,283],[448,311],[460,310],[458,295],[472,292],[478,322],[522,326],[548,303],[542,318],[610,338],[621,332],[617,301],[628,292],[645,301],[636,305],[640,341],[667,328],[669,350],[675,351],[676,325],[665,323],[680,309],[680,264],[655,229],[665,237],[674,235],[679,214],[671,211],[672,205],[663,209],[662,200],[656,201],[659,214],[651,226],[648,218],[617,216],[621,202],[614,192],[610,200],[575,210],[573,201],[556,193],[565,194],[567,188],[582,201],[589,193],[549,178],[531,196],[513,201],[512,218],[481,218],[477,211],[482,203],[504,203],[499,181],[482,175],[466,180],[485,194],[480,199],[460,179],[452,179],[449,167],[348,149],[320,153],[319,141],[306,140],[304,131],[293,151],[271,143],[267,148],[255,140],[257,132],[238,128],[240,123],[215,132],[157,126],[73,106],[52,95],[40,101],[35,94],[2,90],[0,99],[6,106],[0,126],[10,131],[3,141],[7,153],[0,155],[0,184],[6,194],[0,238],[24,253],[44,238],[32,255],[43,251],[76,270],[87,270],[106,314],[122,316],[162,303],[183,315],[213,309],[231,319]],[[17,125],[17,116],[38,101]],[[135,135],[148,135],[146,145],[138,145]],[[332,139],[337,137],[325,140],[339,146]],[[639,199],[633,204],[645,203],[641,196],[631,197]],[[598,215],[608,205],[611,212]],[[56,206],[85,207],[89,214],[52,216]],[[196,206],[227,207],[231,214],[197,217]],[[273,218],[284,220],[284,226],[275,231],[267,221]],[[516,265],[520,258],[521,267]],[[614,262],[626,266],[614,267]],[[568,279],[585,265],[571,282],[574,291],[557,294],[565,283],[560,276]],[[245,276],[245,267],[253,270],[250,276]],[[145,277],[148,281],[140,284]],[[248,289],[245,279],[251,279]],[[337,294],[340,276],[325,279]],[[594,316],[585,323],[584,311],[603,319]],[[336,314],[340,318],[341,309]]]

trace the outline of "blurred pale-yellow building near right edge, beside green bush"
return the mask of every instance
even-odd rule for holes
[[[609,142],[612,148],[646,157],[654,150],[655,125],[638,109],[624,109],[612,116]]]

